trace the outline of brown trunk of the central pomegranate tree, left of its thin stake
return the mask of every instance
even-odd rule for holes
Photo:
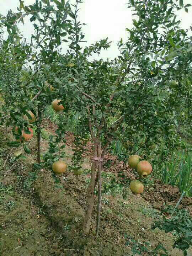
[[[97,146],[98,142],[95,142],[94,145],[94,157],[97,157]],[[95,188],[95,179],[96,179],[96,161],[92,160],[91,165],[91,181],[89,188],[87,190],[87,199],[86,199],[86,209],[85,209],[85,218],[83,224],[83,233],[87,235],[90,229],[91,215],[94,207],[94,188]]]

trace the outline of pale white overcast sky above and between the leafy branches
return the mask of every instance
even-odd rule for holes
[[[73,1],[73,0],[71,0]],[[35,0],[24,0],[25,5],[33,4]],[[126,38],[125,28],[132,27],[132,12],[127,9],[128,0],[84,0],[81,4],[79,19],[87,24],[84,27],[87,45],[95,43],[97,40],[106,37],[112,41],[111,48],[101,53],[101,58],[109,57],[113,59],[118,55],[117,43],[120,38]],[[191,3],[192,0],[183,0],[184,5]],[[17,11],[19,0],[0,0],[0,13],[6,15],[8,10]],[[189,12],[184,10],[177,12],[178,18],[181,19],[181,28],[192,26],[192,7]],[[26,19],[25,25],[19,25],[23,36],[30,40],[33,33],[33,25]],[[6,38],[7,33],[4,34]]]

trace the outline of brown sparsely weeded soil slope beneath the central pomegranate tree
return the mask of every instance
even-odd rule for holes
[[[6,140],[1,133],[1,166],[6,159]],[[125,246],[130,238],[148,241],[151,248],[160,242],[171,256],[182,255],[180,251],[172,250],[174,240],[171,234],[151,230],[153,220],[160,218],[159,212],[145,199],[132,193],[122,204],[121,190],[112,190],[102,197],[100,238],[95,239],[96,205],[90,235],[84,237],[82,222],[90,178],[89,161],[84,162],[86,170],[83,175],[76,177],[68,171],[55,181],[50,170],[33,171],[35,138],[29,147],[34,154],[20,160],[9,171],[11,155],[0,172],[1,178],[8,170],[0,181],[0,255],[127,256],[132,255],[130,247]],[[42,140],[42,152],[47,147],[47,140]],[[73,151],[66,146],[65,152],[65,161],[70,165]],[[104,171],[103,182],[110,180],[112,175]]]

